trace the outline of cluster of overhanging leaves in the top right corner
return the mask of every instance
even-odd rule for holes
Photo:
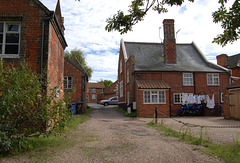
[[[221,23],[224,31],[213,42],[225,46],[240,38],[240,2],[235,0],[229,11],[225,7],[227,0],[219,0],[219,3],[221,7],[212,14],[213,22]]]

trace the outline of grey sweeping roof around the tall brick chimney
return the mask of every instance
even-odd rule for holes
[[[135,57],[135,71],[181,71],[181,72],[227,72],[228,70],[210,63],[191,44],[176,44],[176,64],[164,62],[162,43],[124,42],[125,56]],[[124,53],[124,51],[123,51]]]

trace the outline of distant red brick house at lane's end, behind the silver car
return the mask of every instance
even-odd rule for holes
[[[89,83],[87,89],[88,102],[99,103],[98,96],[102,96],[105,85],[103,83]]]

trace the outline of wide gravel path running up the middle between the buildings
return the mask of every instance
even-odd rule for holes
[[[48,150],[46,162],[221,162],[199,147],[160,136],[141,119],[124,118],[111,107],[95,107],[91,120],[78,126],[68,148]],[[3,162],[37,162],[25,155]],[[45,161],[43,161],[45,162]]]

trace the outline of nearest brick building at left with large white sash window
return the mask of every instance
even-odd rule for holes
[[[0,2],[0,57],[9,64],[26,61],[36,73],[45,73],[48,90],[60,89],[58,98],[66,46],[59,0],[55,11],[39,0]]]

